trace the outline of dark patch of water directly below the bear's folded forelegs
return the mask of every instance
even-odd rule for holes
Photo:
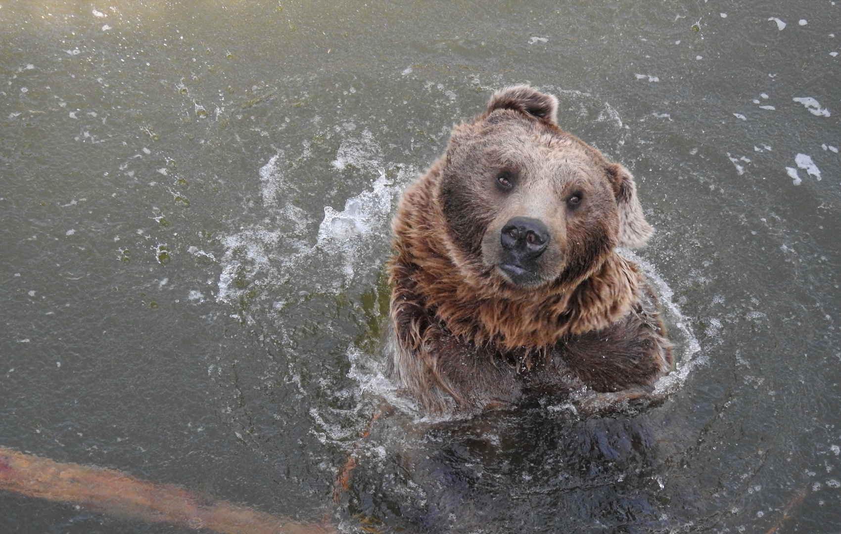
[[[579,417],[539,401],[469,420],[378,420],[344,497],[377,531],[652,532],[697,521],[674,476],[690,446],[678,403]],[[669,476],[665,476],[666,470]],[[663,473],[663,476],[661,476]]]

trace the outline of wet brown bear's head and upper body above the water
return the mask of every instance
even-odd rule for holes
[[[495,93],[399,202],[389,373],[428,414],[637,399],[673,367],[651,288],[615,250],[652,231],[633,177],[557,108],[525,85]]]

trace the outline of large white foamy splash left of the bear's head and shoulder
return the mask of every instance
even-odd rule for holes
[[[257,294],[257,299],[268,298],[269,293],[276,293],[275,288],[289,280],[310,280],[312,275],[305,273],[309,266],[317,266],[320,272],[318,285],[322,293],[338,292],[358,275],[378,268],[379,262],[366,262],[365,256],[373,254],[374,246],[389,242],[394,200],[415,176],[415,169],[385,163],[368,129],[342,140],[332,161],[335,172],[377,178],[371,189],[347,198],[341,211],[325,206],[313,239],[315,221],[304,209],[292,204],[302,187],[296,180],[297,173],[312,157],[309,144],[304,143],[301,156],[291,159],[278,151],[260,169],[262,204],[275,220],[272,225],[265,224],[271,220],[267,219],[264,224],[221,238],[225,254],[220,259],[217,301],[235,305],[250,291]],[[293,165],[289,165],[290,160]],[[397,169],[393,179],[387,177],[386,168]]]

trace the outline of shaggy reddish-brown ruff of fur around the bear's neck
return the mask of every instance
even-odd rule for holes
[[[436,162],[410,186],[394,218],[389,262],[394,297],[411,295],[423,308],[423,322],[437,322],[476,346],[492,344],[518,354],[530,367],[532,353],[627,315],[638,275],[612,247],[577,278],[533,289],[516,288],[480,258],[469,259],[445,230],[436,198],[441,165]]]

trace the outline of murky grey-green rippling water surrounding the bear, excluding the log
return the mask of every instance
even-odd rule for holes
[[[348,532],[837,532],[836,4],[0,2],[0,446]],[[662,406],[418,420],[381,375],[399,192],[520,82],[637,177]]]

